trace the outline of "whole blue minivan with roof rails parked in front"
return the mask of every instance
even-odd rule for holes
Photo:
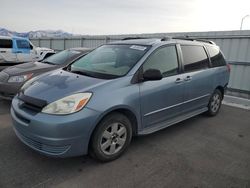
[[[103,45],[28,81],[12,100],[16,135],[54,157],[119,157],[132,136],[206,112],[215,116],[229,80],[219,47],[198,39]]]

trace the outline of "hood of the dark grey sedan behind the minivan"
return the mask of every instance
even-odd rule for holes
[[[40,62],[23,63],[8,67],[4,70],[10,76],[23,75],[25,73],[43,73],[57,68],[55,65],[50,65]]]

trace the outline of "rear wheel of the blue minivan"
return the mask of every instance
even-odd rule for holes
[[[216,89],[209,100],[207,115],[216,116],[220,110],[221,102],[222,93],[220,90]]]

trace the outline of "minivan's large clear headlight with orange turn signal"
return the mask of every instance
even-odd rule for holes
[[[45,106],[42,110],[47,114],[71,114],[80,111],[91,98],[92,93],[77,93],[64,97]]]

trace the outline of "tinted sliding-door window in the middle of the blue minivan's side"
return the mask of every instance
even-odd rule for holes
[[[208,68],[208,57],[203,46],[181,46],[185,72]]]

